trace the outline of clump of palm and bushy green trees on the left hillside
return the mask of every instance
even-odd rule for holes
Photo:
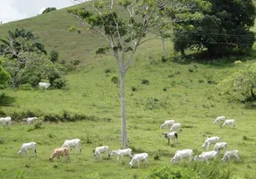
[[[0,55],[7,59],[3,65],[12,77],[13,88],[23,84],[36,87],[40,81],[49,81],[58,89],[64,88],[62,66],[53,63],[58,59],[57,52],[52,51],[47,55],[45,46],[38,42],[38,38],[30,30],[9,30],[8,36],[0,40]]]

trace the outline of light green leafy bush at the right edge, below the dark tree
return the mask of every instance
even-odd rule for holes
[[[240,101],[256,99],[256,63],[247,64],[244,70],[235,72],[221,81],[219,89]]]

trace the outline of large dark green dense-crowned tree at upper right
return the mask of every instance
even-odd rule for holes
[[[251,49],[255,33],[255,7],[252,0],[209,0],[209,8],[195,6],[193,12],[204,14],[201,20],[177,21],[175,28],[175,50],[201,50],[209,55],[226,55],[234,49]],[[192,12],[192,13],[193,13]]]

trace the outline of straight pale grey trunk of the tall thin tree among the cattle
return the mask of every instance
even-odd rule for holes
[[[120,72],[120,101],[121,101],[121,128],[122,128],[122,147],[125,149],[128,146],[126,132],[126,117],[125,117],[125,96],[124,96],[124,75],[125,72]]]

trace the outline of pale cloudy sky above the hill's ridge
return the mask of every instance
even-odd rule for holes
[[[26,19],[42,13],[47,7],[62,9],[71,5],[72,0],[0,0],[0,21]]]

